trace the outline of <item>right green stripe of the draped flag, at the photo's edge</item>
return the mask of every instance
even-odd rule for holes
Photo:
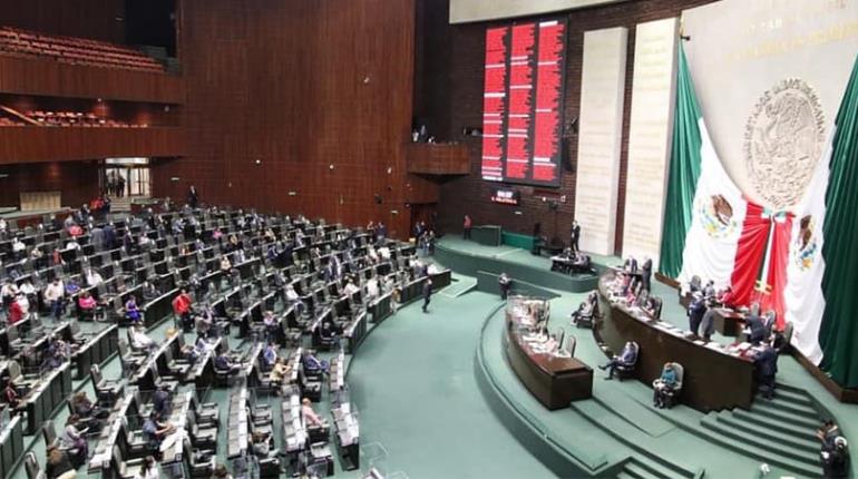
[[[821,368],[846,388],[858,387],[858,59],[835,120],[826,192]]]

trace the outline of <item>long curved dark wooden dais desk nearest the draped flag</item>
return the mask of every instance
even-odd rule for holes
[[[680,401],[700,411],[750,408],[753,401],[753,362],[725,350],[698,344],[659,321],[612,302],[607,283],[614,273],[599,278],[598,302],[603,319],[594,325],[597,341],[620,353],[627,341],[641,346],[635,377],[646,385],[661,377],[666,362],[684,369]]]

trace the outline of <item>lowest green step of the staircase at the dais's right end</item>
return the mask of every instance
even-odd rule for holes
[[[810,477],[818,477],[820,473],[819,458],[816,452],[781,448],[781,444],[768,443],[766,438],[719,422],[713,414],[703,418],[701,424],[714,433],[718,442],[729,449]]]

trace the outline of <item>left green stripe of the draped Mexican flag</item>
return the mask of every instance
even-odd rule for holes
[[[685,235],[691,227],[694,192],[700,177],[700,107],[694,92],[685,50],[680,42],[676,78],[676,109],[673,116],[673,147],[664,204],[664,228],[659,271],[670,277],[682,271]]]

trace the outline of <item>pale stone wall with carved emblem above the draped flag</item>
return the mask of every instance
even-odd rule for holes
[[[744,194],[790,208],[831,131],[858,52],[858,1],[722,0],[683,12],[712,143]]]

